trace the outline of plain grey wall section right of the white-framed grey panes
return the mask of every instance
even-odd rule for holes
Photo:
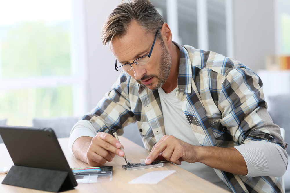
[[[234,56],[254,71],[275,54],[273,0],[233,0]]]

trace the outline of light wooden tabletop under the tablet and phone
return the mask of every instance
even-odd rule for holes
[[[146,159],[149,151],[145,150],[141,146],[133,143],[125,137],[119,137],[121,144],[124,146],[126,153],[126,159],[131,160],[132,163],[140,163],[140,159]],[[59,143],[68,160],[68,164],[71,168],[83,168],[88,167],[88,164],[75,158],[68,150],[68,138],[60,138]],[[9,169],[13,165],[12,159],[4,144],[0,144],[0,167],[8,167]],[[112,181],[98,182],[91,184],[78,184],[74,190],[67,191],[68,193],[77,192],[125,192],[125,193],[152,193],[152,192],[228,192],[219,186],[214,185],[178,166],[173,163],[165,162],[164,167],[149,168],[143,170],[129,170],[126,171],[121,168],[126,162],[123,157],[115,156],[112,162],[107,162],[103,166],[113,166]],[[164,170],[176,170],[173,174],[166,177],[156,185],[133,185],[128,184],[129,181],[152,171],[164,171]],[[6,174],[0,174],[0,182],[3,181]],[[23,193],[39,193],[45,191],[33,190],[28,188],[20,188],[16,186],[0,184],[1,193],[10,192],[23,192]]]

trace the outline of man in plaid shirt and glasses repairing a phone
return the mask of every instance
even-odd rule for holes
[[[123,157],[110,130],[122,134],[137,121],[151,150],[146,164],[171,161],[232,192],[282,191],[287,144],[267,113],[260,78],[232,58],[171,38],[148,0],[115,7],[102,40],[122,73],[73,127],[72,153],[90,166]]]

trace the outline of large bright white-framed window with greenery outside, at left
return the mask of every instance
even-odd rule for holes
[[[70,0],[0,1],[0,119],[8,125],[85,113],[74,6]]]

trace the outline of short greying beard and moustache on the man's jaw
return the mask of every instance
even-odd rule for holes
[[[148,88],[148,86],[151,86],[151,84],[147,84],[143,86],[145,86],[147,89],[154,91],[156,89],[159,89],[160,87],[163,86],[163,84],[166,82],[169,73],[170,73],[170,69],[171,69],[171,64],[172,64],[172,57],[171,54],[168,52],[168,50],[166,49],[164,42],[161,41],[160,42],[161,48],[162,48],[162,54],[161,54],[161,59],[160,59],[160,67],[159,67],[159,72],[158,75],[155,74],[151,74],[151,75],[147,75],[145,74],[141,79],[137,79],[136,81],[139,84],[142,84],[141,81],[147,80],[151,77],[156,77],[158,79],[158,82],[155,86],[153,86],[152,88]]]

